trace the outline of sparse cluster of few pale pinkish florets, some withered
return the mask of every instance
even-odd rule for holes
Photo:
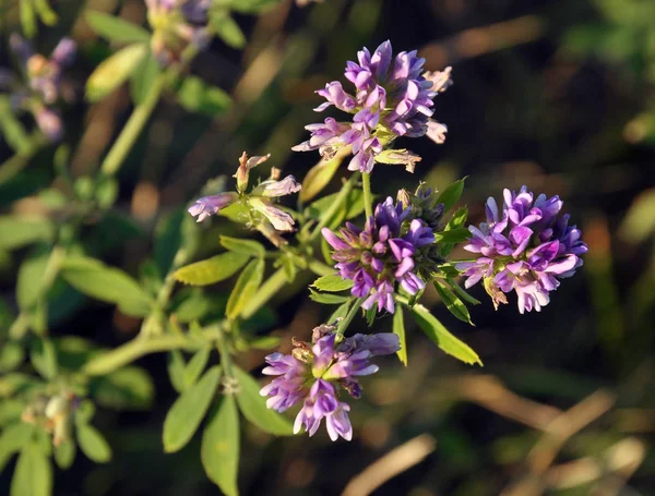
[[[248,155],[243,152],[239,158],[239,168],[235,174],[239,192],[228,191],[217,195],[203,196],[189,207],[189,214],[198,217],[198,222],[201,222],[242,198],[245,204],[253,209],[253,213],[263,216],[265,220],[261,219],[262,222],[267,222],[276,231],[291,231],[294,229],[294,218],[273,205],[270,198],[286,196],[300,191],[301,186],[296,181],[296,178],[287,176],[278,181],[279,170],[273,168],[271,179],[263,181],[248,195],[245,194],[249,183],[250,169],[266,161],[270,156],[269,154],[263,157],[248,158]]]

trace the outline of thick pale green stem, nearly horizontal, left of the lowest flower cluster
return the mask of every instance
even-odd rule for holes
[[[221,325],[222,323],[207,327],[204,331],[204,338],[207,341],[219,339]],[[91,359],[82,367],[82,373],[85,375],[105,375],[150,353],[179,349],[198,350],[203,346],[204,343],[174,334],[141,337]]]

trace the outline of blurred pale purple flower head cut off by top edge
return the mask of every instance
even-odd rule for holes
[[[153,28],[151,48],[162,65],[179,59],[193,44],[204,48],[210,35],[205,28],[211,0],[145,0],[147,21]]]

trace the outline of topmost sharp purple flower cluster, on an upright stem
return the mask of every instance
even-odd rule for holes
[[[371,172],[374,162],[384,161],[381,154],[398,136],[428,135],[443,143],[445,126],[431,119],[433,98],[450,83],[450,68],[439,73],[421,75],[425,59],[414,51],[402,51],[393,58],[390,41],[381,44],[373,53],[364,49],[357,53],[359,63],[348,62],[345,76],[356,88],[353,96],[337,81],[327,83],[317,93],[325,102],[314,110],[321,112],[330,106],[353,114],[352,122],[337,122],[327,118],[323,123],[306,126],[311,132],[309,141],[293,149],[319,149],[330,158],[343,146],[353,147],[349,170]],[[408,155],[416,161],[416,156]]]

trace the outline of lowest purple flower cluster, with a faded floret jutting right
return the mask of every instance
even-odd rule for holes
[[[370,359],[395,353],[400,344],[398,337],[391,332],[342,339],[335,331],[334,326],[319,326],[313,329],[311,343],[294,341],[293,354],[266,356],[269,366],[263,374],[277,377],[262,388],[261,395],[267,396],[266,406],[278,412],[302,402],[294,425],[296,434],[303,428],[313,436],[324,419],[332,440],[340,436],[350,440],[350,407],[340,401],[341,388],[360,398],[358,377],[379,370]]]

